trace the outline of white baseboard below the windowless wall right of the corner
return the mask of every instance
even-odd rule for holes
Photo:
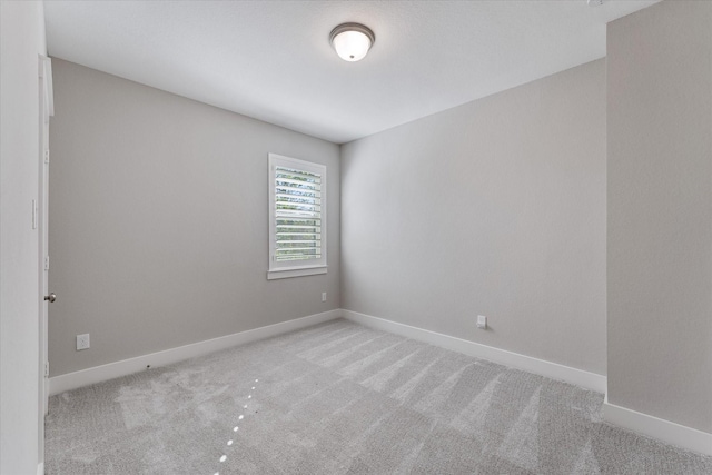
[[[365,325],[367,327],[390,331],[408,338],[429,343],[442,348],[452,349],[476,358],[487,359],[505,366],[523,369],[552,379],[560,379],[576,386],[585,387],[599,393],[605,393],[606,377],[583,369],[576,369],[557,363],[520,355],[518,353],[482,345],[449,335],[398,324],[370,315],[358,314],[352,310],[342,310],[344,318]]]

